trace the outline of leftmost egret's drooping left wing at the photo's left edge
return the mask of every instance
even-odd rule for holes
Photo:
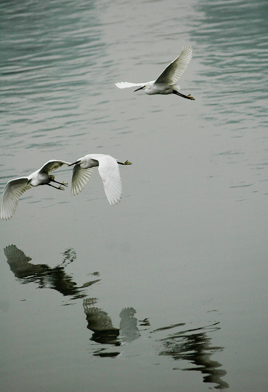
[[[8,181],[4,187],[0,213],[0,218],[3,221],[7,221],[12,217],[17,208],[19,198],[27,189],[32,188],[27,182],[27,177],[14,178],[14,180]]]

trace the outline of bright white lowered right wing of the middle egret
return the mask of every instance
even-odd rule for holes
[[[98,172],[109,203],[117,204],[122,196],[122,182],[117,160],[110,155],[99,157]]]

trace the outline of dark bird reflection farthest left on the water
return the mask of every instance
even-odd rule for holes
[[[72,248],[63,253],[63,262],[54,268],[47,264],[30,263],[31,258],[26,256],[16,245],[6,246],[4,254],[10,270],[21,283],[38,283],[40,289],[50,288],[63,295],[71,295],[72,299],[84,298],[87,294],[83,289],[100,281],[100,279],[93,280],[77,287],[72,277],[64,270],[68,264],[76,259],[75,251]]]

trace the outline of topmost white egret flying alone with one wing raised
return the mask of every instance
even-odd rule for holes
[[[184,95],[179,93],[178,90],[180,89],[180,86],[176,83],[177,80],[181,77],[182,73],[186,70],[191,58],[192,47],[184,47],[181,54],[171,61],[171,63],[164,69],[164,71],[158,76],[156,80],[151,80],[150,82],[145,83],[119,82],[115,83],[115,85],[119,89],[141,86],[134,91],[144,90],[144,92],[148,95],[176,94],[183,98],[195,99],[190,94]]]

